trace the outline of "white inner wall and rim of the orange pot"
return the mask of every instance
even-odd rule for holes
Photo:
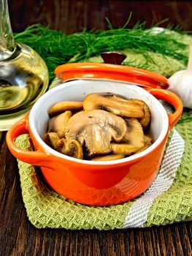
[[[47,93],[42,95],[42,97],[37,100],[37,102],[34,104],[34,107],[31,109],[31,113],[29,115],[29,124],[31,130],[33,131],[37,140],[39,140],[39,143],[46,149],[46,151],[49,151],[51,154],[55,154],[58,157],[70,159],[76,162],[86,162],[86,164],[90,165],[101,165],[101,163],[102,165],[107,165],[109,162],[110,164],[112,164],[112,162],[125,162],[130,158],[128,157],[125,159],[118,159],[107,162],[92,162],[87,160],[74,159],[72,157],[58,153],[43,142],[42,137],[47,132],[47,121],[50,118],[47,114],[47,110],[56,102],[64,100],[83,101],[87,94],[91,94],[93,92],[110,92],[112,94],[119,94],[123,97],[126,97],[127,99],[142,99],[150,108],[151,122],[149,131],[154,143],[145,151],[131,156],[131,159],[147,154],[154,147],[158,146],[158,144],[161,143],[161,141],[166,136],[166,132],[169,126],[166,110],[164,110],[164,107],[160,102],[158,102],[157,99],[155,99],[155,97],[150,95],[144,89],[132,84],[109,80],[74,80],[68,83],[64,83],[61,86],[57,86],[50,91],[47,91]]]

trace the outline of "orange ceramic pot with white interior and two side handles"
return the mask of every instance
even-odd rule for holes
[[[86,94],[106,91],[147,103],[152,116],[152,146],[131,157],[96,162],[68,157],[44,143],[42,136],[49,119],[47,110],[53,104],[61,100],[82,101]],[[167,114],[158,99],[171,103],[175,112]],[[50,187],[64,197],[87,205],[109,206],[137,197],[150,187],[158,173],[169,130],[180,118],[182,110],[181,100],[164,89],[142,89],[112,80],[72,80],[40,97],[28,116],[9,129],[7,145],[18,159],[39,165]],[[26,132],[31,136],[35,151],[23,151],[15,146],[15,138]]]

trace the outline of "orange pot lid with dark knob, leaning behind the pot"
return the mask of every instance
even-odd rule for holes
[[[126,56],[119,52],[101,53],[104,63],[70,63],[58,66],[55,75],[61,80],[117,80],[144,87],[167,89],[168,79],[155,72],[120,65]]]

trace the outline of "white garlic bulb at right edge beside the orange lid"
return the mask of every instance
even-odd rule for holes
[[[169,89],[183,101],[185,108],[192,109],[192,42],[188,59],[188,68],[174,73],[169,79]]]

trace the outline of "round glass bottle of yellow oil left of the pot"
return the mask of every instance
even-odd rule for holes
[[[7,0],[0,0],[0,131],[25,116],[47,86],[45,62],[35,50],[15,42]]]

